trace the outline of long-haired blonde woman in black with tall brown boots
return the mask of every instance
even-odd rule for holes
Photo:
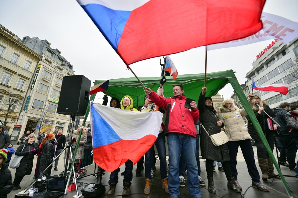
[[[273,117],[275,120],[278,120],[277,116],[273,113],[273,111],[270,109],[270,107],[267,105],[265,101],[262,101],[260,96],[255,95],[254,97],[255,105],[252,107],[254,110],[254,113],[257,117],[258,122],[261,125],[262,131],[268,141],[268,144],[270,146],[271,151],[273,151],[274,148],[274,130],[277,130],[277,124],[273,123],[273,130],[269,129],[268,127],[268,121],[270,120],[269,116]],[[260,106],[258,107],[257,104]],[[268,115],[265,113],[268,113]],[[274,168],[273,168],[273,162],[271,161],[271,158],[269,157],[266,147],[263,143],[263,141],[260,139],[259,135],[257,134],[256,129],[254,128],[250,117],[247,116],[248,120],[248,132],[250,136],[254,139],[257,146],[257,157],[259,161],[259,166],[262,171],[262,179],[267,180],[269,177],[274,176]],[[276,177],[278,178],[278,177]]]

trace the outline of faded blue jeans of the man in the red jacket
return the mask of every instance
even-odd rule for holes
[[[179,161],[181,152],[187,165],[187,185],[192,197],[200,197],[198,166],[196,160],[196,138],[186,134],[169,133],[169,196],[179,197]]]

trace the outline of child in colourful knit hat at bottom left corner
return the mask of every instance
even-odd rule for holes
[[[11,172],[8,169],[7,161],[7,149],[0,149],[0,198],[6,198],[7,194],[12,190],[12,177]]]

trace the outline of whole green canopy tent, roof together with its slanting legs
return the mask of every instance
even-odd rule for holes
[[[163,85],[164,87],[164,96],[172,96],[172,88],[173,85],[183,85],[183,89],[185,92],[186,97],[194,99],[198,101],[199,94],[201,92],[202,87],[204,86],[204,78],[205,74],[189,74],[189,75],[179,75],[175,80],[172,79],[171,76],[166,77],[167,81]],[[161,77],[140,77],[140,80],[146,87],[151,88],[152,90],[157,90],[159,86]],[[96,80],[94,85],[97,85],[101,82],[105,82],[106,80]],[[272,159],[279,176],[282,179],[282,182],[286,188],[289,197],[293,197],[291,195],[289,186],[286,183],[284,176],[278,164],[275,160],[275,157],[269,147],[269,144],[264,136],[264,133],[261,129],[259,122],[257,121],[256,116],[254,115],[253,110],[251,109],[246,96],[243,93],[241,86],[239,85],[237,78],[234,74],[233,70],[227,71],[219,71],[207,74],[207,92],[206,96],[214,96],[220,89],[222,89],[226,84],[231,83],[233,89],[236,92],[240,102],[242,103],[244,109],[246,110],[247,114],[250,116],[254,127],[257,130],[258,135],[260,136],[261,140],[264,142],[266,150]],[[134,106],[143,106],[144,105],[144,90],[143,87],[140,85],[140,82],[136,78],[119,78],[119,79],[112,79],[109,80],[109,86],[107,91],[103,91],[105,94],[111,97],[116,97],[118,99],[122,99],[125,95],[132,96],[134,100]],[[94,100],[96,94],[91,95],[90,100]],[[86,110],[85,118],[83,121],[83,125],[86,122],[87,116],[89,114],[89,105]],[[82,131],[80,132],[78,141],[80,141]],[[76,145],[76,149],[74,151],[74,156],[76,155],[78,145]],[[73,163],[72,163],[73,166]]]

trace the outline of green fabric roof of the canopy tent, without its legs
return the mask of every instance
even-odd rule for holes
[[[139,77],[143,84],[157,91],[161,77]],[[214,96],[220,89],[229,83],[229,78],[236,78],[232,70],[208,73],[207,75],[207,96]],[[198,101],[199,94],[204,86],[205,74],[187,74],[179,75],[175,80],[172,76],[166,77],[166,83],[163,85],[164,96],[173,96],[173,85],[183,85],[185,96]],[[106,80],[96,80],[94,85]],[[107,91],[103,91],[108,96],[116,97],[120,101],[123,96],[129,95],[133,98],[134,107],[144,105],[144,89],[135,77],[118,78],[109,80]]]

